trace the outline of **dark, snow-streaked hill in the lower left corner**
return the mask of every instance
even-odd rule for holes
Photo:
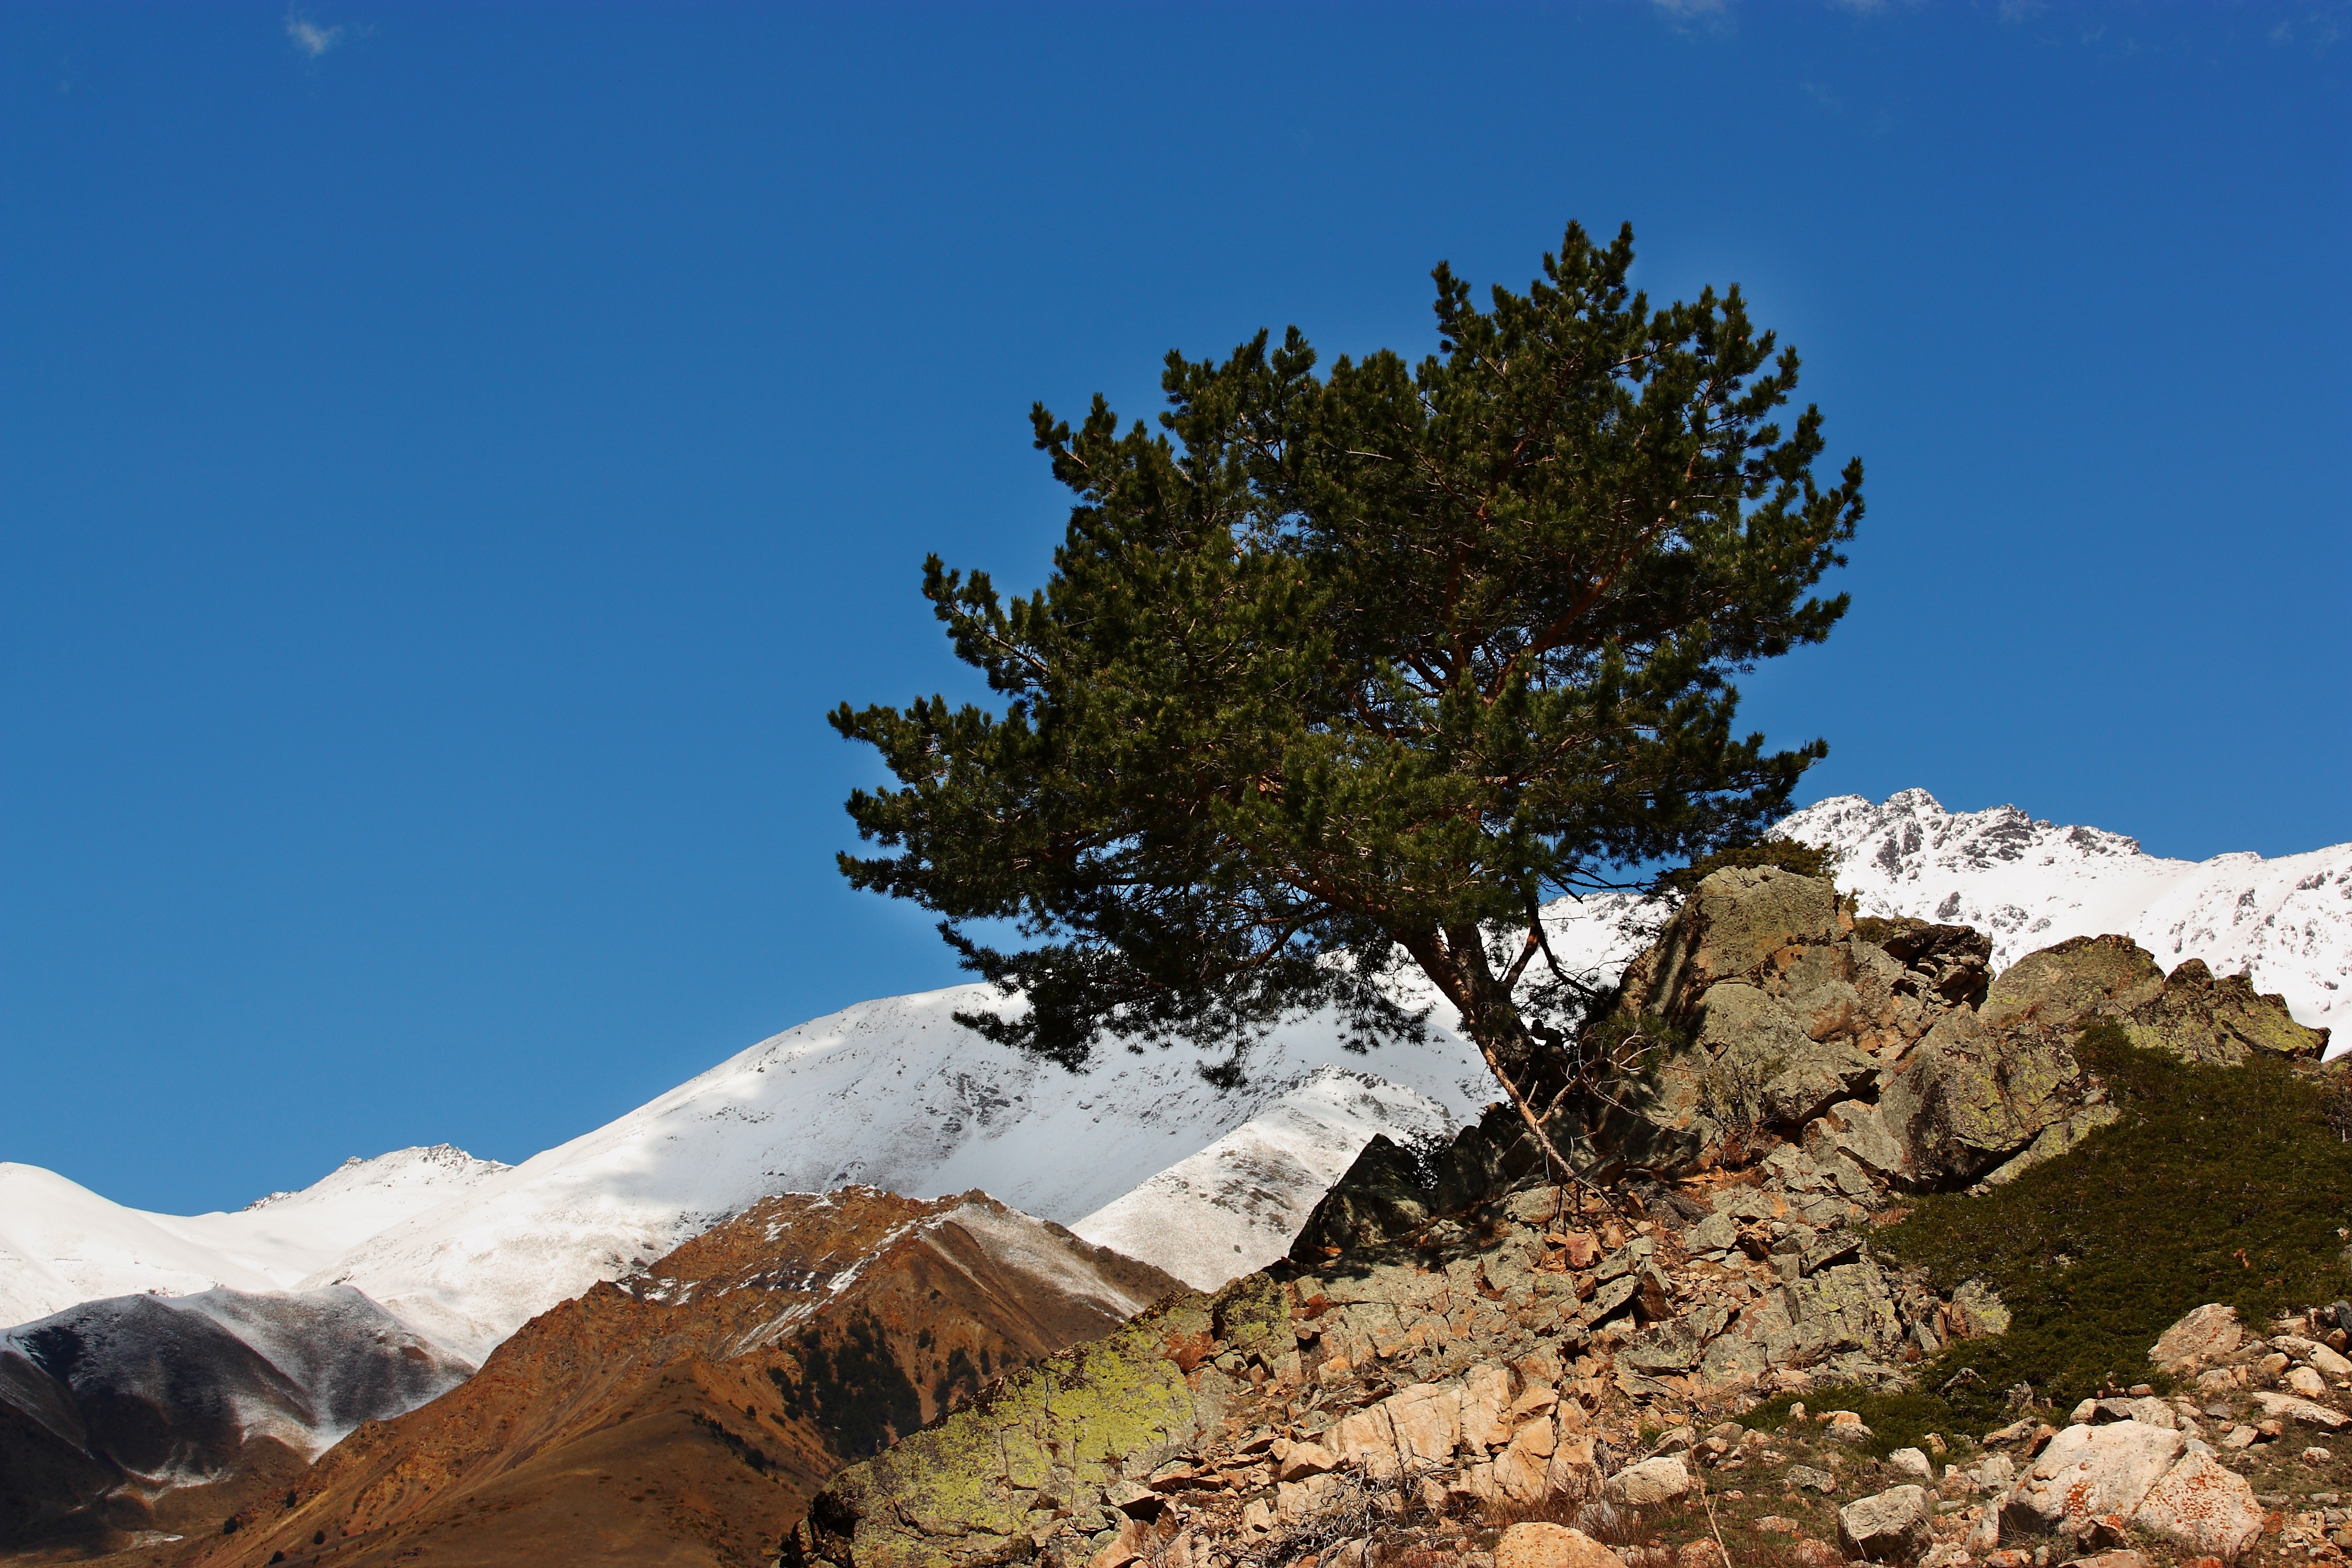
[[[122,1295],[0,1335],[0,1549],[219,1528],[473,1368],[350,1288]]]

